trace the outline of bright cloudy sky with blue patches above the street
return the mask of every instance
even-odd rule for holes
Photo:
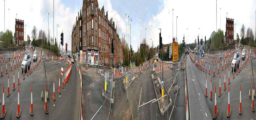
[[[53,5],[53,0],[6,0],[4,24],[4,0],[0,0],[0,31],[4,31],[4,25],[5,29],[14,31],[17,14],[17,19],[24,20],[24,24],[27,25],[26,35],[31,36],[33,26],[36,26],[38,31],[43,29],[48,33],[49,13],[50,35],[54,34],[56,37],[56,25],[59,24],[58,41],[62,30],[64,42],[70,41],[72,25],[80,12],[82,2],[83,0],[55,0]],[[100,8],[104,5],[109,19],[113,17],[120,36],[129,35],[126,33],[128,23],[126,24],[125,14],[132,18],[130,21],[131,44],[135,50],[145,34],[148,44],[152,46],[153,41],[154,46],[157,46],[159,28],[161,28],[164,44],[170,43],[172,36],[176,37],[176,34],[179,42],[185,36],[188,43],[193,43],[198,35],[199,38],[206,36],[208,39],[211,33],[216,31],[216,0],[98,0],[98,3]],[[242,24],[246,28],[251,27],[254,32],[255,10],[255,0],[218,0],[217,29],[226,31],[225,24],[228,17],[234,19],[235,34],[239,34]],[[69,44],[69,50],[70,47]]]

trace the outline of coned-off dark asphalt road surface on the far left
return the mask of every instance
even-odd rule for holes
[[[32,52],[30,51],[30,54]],[[41,91],[45,91],[42,87],[42,81],[44,78],[44,67],[41,61],[39,66],[33,70],[33,73],[28,77],[25,75],[25,80],[23,80],[23,74],[21,66],[19,66],[19,100],[20,100],[20,119],[78,119],[79,117],[79,107],[80,107],[80,80],[77,69],[72,65],[71,78],[68,85],[65,86],[65,90],[61,88],[61,94],[58,93],[58,79],[60,74],[60,68],[67,68],[65,65],[66,60],[61,61],[60,64],[53,65],[51,61],[45,62],[46,64],[46,75],[47,75],[47,88],[49,94],[49,100],[47,100],[49,114],[44,113],[45,99],[41,99]],[[10,85],[10,96],[6,97],[7,94],[7,84],[8,84],[8,74],[0,77],[0,85],[4,85],[5,92],[5,109],[7,110],[5,119],[16,119],[17,112],[17,101],[18,101],[18,69],[10,71],[10,67],[7,66],[9,73],[9,85]],[[5,70],[5,69],[4,69]],[[3,71],[4,71],[3,70]],[[13,91],[13,72],[15,72],[15,87],[16,90]],[[53,95],[53,79],[55,78],[55,97],[56,101],[52,100]],[[61,77],[62,79],[62,77]],[[62,81],[62,80],[61,80]],[[30,111],[30,99],[31,99],[31,85],[33,89],[33,110],[34,116],[29,115]],[[2,86],[0,92],[3,92]],[[43,93],[44,96],[45,92]],[[2,101],[2,96],[1,96]],[[2,106],[2,104],[1,104]],[[2,110],[2,107],[0,108]]]

